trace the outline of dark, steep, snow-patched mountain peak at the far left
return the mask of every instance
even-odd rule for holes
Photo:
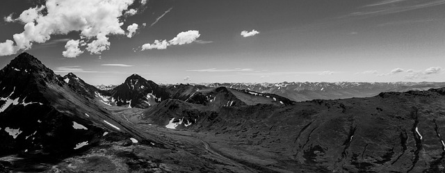
[[[88,99],[88,85],[69,85],[28,53],[1,69],[0,155],[66,154],[82,142],[94,144],[104,131],[118,131],[104,123],[116,124],[111,114]]]

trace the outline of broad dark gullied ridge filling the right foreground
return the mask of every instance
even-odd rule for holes
[[[444,91],[212,110],[169,101],[148,109],[145,117],[196,119],[188,130],[237,137],[248,147],[273,153],[284,170],[293,172],[442,172]],[[157,122],[165,125],[169,119]]]

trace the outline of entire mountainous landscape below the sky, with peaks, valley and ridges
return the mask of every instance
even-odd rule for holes
[[[444,172],[443,87],[133,74],[101,90],[21,53],[0,71],[0,172]]]

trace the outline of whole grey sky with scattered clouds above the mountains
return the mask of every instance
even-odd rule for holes
[[[444,81],[445,0],[2,0],[24,51],[92,85]]]

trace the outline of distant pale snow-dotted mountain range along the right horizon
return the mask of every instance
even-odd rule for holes
[[[373,97],[380,92],[406,92],[408,90],[428,90],[445,87],[445,83],[432,82],[283,82],[283,83],[209,83],[211,88],[225,87],[237,90],[251,90],[260,93],[277,94],[293,101],[312,99],[346,99],[353,97]]]

